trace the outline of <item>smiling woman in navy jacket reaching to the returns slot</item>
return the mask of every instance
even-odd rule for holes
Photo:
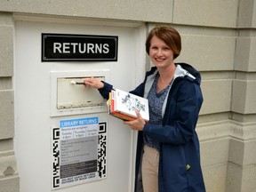
[[[124,122],[138,130],[135,191],[204,192],[196,122],[203,103],[201,76],[180,55],[180,34],[171,27],[153,28],[146,51],[155,67],[133,94],[148,98],[149,123],[137,118]],[[108,99],[112,85],[95,78],[84,84]],[[141,182],[142,178],[142,182]]]

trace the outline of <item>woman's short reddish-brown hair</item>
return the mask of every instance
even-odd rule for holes
[[[173,59],[176,59],[180,55],[181,51],[181,38],[179,32],[170,26],[157,26],[153,28],[148,34],[146,40],[146,52],[149,54],[149,48],[151,39],[153,36],[157,36],[172,49]]]

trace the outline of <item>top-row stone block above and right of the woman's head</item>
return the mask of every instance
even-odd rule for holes
[[[173,23],[236,28],[238,0],[176,0]]]

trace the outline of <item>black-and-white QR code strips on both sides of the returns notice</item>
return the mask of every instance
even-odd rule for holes
[[[107,123],[99,123],[98,167],[99,179],[107,178]],[[60,188],[60,128],[52,129],[52,188]]]

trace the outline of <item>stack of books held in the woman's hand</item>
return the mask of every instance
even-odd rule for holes
[[[108,113],[122,120],[132,121],[137,118],[135,110],[140,112],[140,116],[149,121],[148,100],[130,92],[116,89],[109,92]]]

